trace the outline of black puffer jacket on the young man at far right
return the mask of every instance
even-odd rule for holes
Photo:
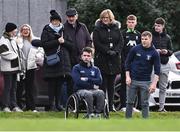
[[[172,48],[172,42],[170,36],[164,32],[158,33],[153,31],[153,44],[156,49],[166,49],[168,53],[166,55],[160,54],[160,59],[161,59],[161,64],[167,64],[169,61],[169,56],[172,55],[173,53],[173,48]]]

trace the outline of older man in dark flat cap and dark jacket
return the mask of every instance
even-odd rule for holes
[[[84,47],[92,47],[92,40],[85,24],[78,21],[78,12],[75,8],[66,11],[67,21],[64,24],[64,33],[71,39],[73,50],[70,54],[72,66],[79,63],[80,54]]]

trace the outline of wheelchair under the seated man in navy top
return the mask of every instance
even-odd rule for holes
[[[109,106],[108,101],[104,100],[104,109],[102,111],[102,117],[108,119],[109,118]],[[95,107],[95,106],[94,106]],[[85,99],[79,97],[77,93],[73,93],[67,100],[66,108],[65,108],[65,119],[68,118],[79,118],[80,113],[84,113],[87,115],[88,104]]]

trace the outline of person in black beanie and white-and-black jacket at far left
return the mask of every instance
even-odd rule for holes
[[[16,80],[20,70],[19,48],[14,40],[17,26],[7,23],[5,32],[0,39],[1,72],[4,77],[4,90],[2,94],[2,105],[4,112],[22,112],[16,103]]]

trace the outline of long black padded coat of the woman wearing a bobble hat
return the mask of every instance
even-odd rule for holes
[[[44,79],[55,78],[60,76],[70,76],[71,74],[71,62],[69,52],[72,48],[69,39],[64,35],[65,42],[60,44],[58,38],[62,35],[63,30],[57,34],[49,25],[46,25],[41,34],[42,47],[46,55],[51,55],[57,52],[60,46],[60,63],[54,66],[48,66],[46,63],[46,57],[43,64]]]

